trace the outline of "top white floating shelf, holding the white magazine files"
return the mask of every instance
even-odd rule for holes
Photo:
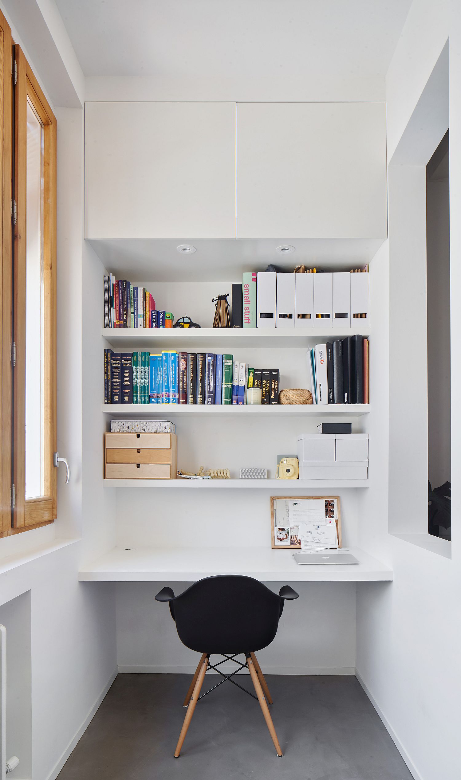
[[[103,337],[114,349],[150,349],[154,346],[169,349],[176,346],[185,351],[207,346],[215,349],[302,349],[327,340],[344,339],[354,333],[369,335],[369,324],[356,320],[351,328],[312,328],[305,331],[296,328],[102,328]]]

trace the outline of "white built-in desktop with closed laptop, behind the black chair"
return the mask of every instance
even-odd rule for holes
[[[243,574],[261,582],[367,582],[392,580],[392,569],[359,548],[354,566],[298,566],[291,550],[256,548],[119,548],[82,567],[89,582],[194,582],[218,574]]]

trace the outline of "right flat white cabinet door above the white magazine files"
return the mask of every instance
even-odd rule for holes
[[[384,103],[238,103],[239,239],[387,235]]]

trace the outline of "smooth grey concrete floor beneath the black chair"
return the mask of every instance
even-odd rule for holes
[[[282,758],[257,701],[230,683],[197,704],[173,758],[190,677],[119,675],[58,780],[411,780],[355,677],[267,681]],[[207,675],[202,692],[217,682]]]

